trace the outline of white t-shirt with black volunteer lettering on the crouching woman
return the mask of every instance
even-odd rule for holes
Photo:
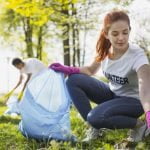
[[[128,50],[117,60],[108,57],[102,61],[102,71],[110,81],[109,86],[118,96],[129,96],[139,99],[138,69],[149,64],[144,50],[135,45],[129,45]]]

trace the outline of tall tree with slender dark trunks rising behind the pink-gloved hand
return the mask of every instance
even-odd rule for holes
[[[80,11],[80,6],[84,5],[84,0],[62,0],[55,3],[55,16],[59,16],[59,20],[53,19],[58,28],[62,31],[63,49],[64,49],[64,64],[81,65],[81,46],[80,46],[80,32],[83,31],[84,26],[86,29],[91,28],[90,24],[95,19],[84,20],[84,14]],[[57,6],[56,6],[57,5]],[[57,11],[56,11],[57,10]]]

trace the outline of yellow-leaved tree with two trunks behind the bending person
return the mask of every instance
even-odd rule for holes
[[[42,30],[46,27],[45,24],[49,21],[49,16],[53,12],[51,7],[45,5],[44,0],[5,1],[5,14],[3,16],[7,17],[3,17],[3,21],[9,24],[8,29],[15,30],[20,27],[24,31],[24,41],[28,57],[42,59]],[[37,30],[39,31],[37,32]],[[37,39],[35,40],[37,44],[34,44],[34,38]],[[37,45],[36,48],[38,49],[34,50],[34,45]]]

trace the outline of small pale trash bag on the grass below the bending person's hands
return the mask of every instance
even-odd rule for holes
[[[16,114],[16,115],[19,115],[20,114],[20,110],[19,110],[19,101],[17,99],[16,96],[11,96],[6,105],[8,107],[8,109],[4,112],[4,114]]]

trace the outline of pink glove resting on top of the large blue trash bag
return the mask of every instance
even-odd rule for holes
[[[79,68],[61,65],[60,63],[53,63],[49,66],[49,68],[55,71],[63,72],[64,74],[67,74],[67,75],[80,73]]]

